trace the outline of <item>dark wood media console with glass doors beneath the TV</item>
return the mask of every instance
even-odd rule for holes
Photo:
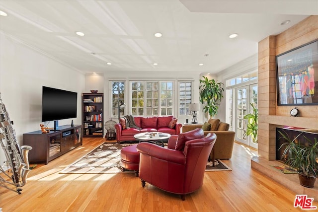
[[[32,146],[28,155],[30,163],[48,164],[49,161],[82,145],[82,126],[64,125],[60,126],[58,131],[50,131],[47,134],[43,134],[40,130],[25,133],[23,145]]]

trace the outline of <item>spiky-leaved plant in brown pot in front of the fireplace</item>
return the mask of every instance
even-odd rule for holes
[[[282,158],[286,159],[285,163],[297,171],[300,184],[304,187],[314,188],[314,184],[318,174],[318,141],[314,138],[311,141],[307,137],[299,134],[293,140],[281,131],[278,131],[281,138],[285,139],[279,149],[285,148]],[[300,137],[303,137],[307,144],[299,142]],[[286,157],[287,156],[287,157]]]

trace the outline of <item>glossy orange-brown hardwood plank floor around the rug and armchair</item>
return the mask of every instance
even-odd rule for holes
[[[59,174],[104,141],[84,138],[82,146],[47,165],[38,164],[21,195],[0,187],[0,208],[3,212],[302,211],[294,208],[295,193],[250,168],[256,151],[238,143],[232,159],[223,160],[232,171],[206,172],[202,188],[186,195],[185,201],[148,183],[143,188],[134,173]]]

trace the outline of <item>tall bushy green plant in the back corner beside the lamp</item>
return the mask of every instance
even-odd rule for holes
[[[219,103],[223,98],[223,87],[222,82],[217,82],[214,79],[208,79],[208,77],[203,76],[200,79],[200,103],[204,104],[203,112],[209,113],[211,117],[218,114]]]

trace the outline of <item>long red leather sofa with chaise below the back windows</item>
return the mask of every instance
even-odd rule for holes
[[[136,141],[134,135],[144,132],[160,132],[168,133],[170,135],[179,135],[182,127],[181,123],[175,123],[170,128],[169,124],[171,120],[177,121],[173,116],[156,116],[156,117],[134,117],[135,123],[138,127],[142,128],[138,130],[136,128],[124,129],[122,124],[116,124],[116,139],[117,142],[121,141]]]

